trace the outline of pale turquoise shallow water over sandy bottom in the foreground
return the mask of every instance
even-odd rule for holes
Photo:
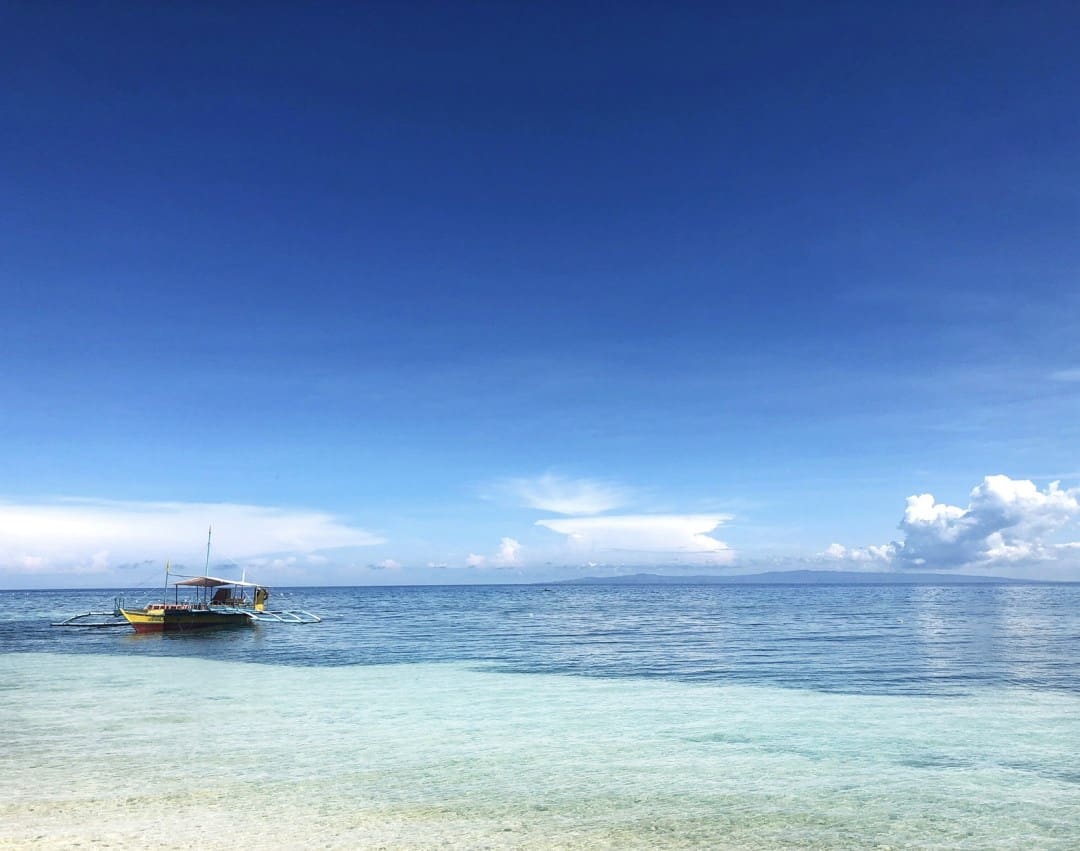
[[[0,659],[0,848],[1080,846],[1080,698]]]

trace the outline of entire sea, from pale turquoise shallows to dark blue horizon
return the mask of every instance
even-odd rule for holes
[[[0,592],[0,848],[1078,849],[1080,585]],[[157,592],[160,594],[160,592]]]

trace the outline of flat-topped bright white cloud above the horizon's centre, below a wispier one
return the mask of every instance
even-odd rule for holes
[[[544,519],[537,525],[565,535],[579,553],[693,555],[715,564],[731,560],[733,553],[707,532],[729,519],[729,514],[623,514]]]

